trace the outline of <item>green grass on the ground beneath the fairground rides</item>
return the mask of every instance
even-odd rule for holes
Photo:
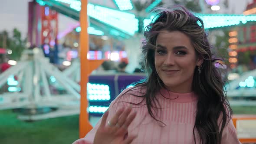
[[[256,107],[232,107],[234,114],[254,114]],[[0,111],[0,144],[72,144],[79,138],[79,116],[25,122],[11,110]]]

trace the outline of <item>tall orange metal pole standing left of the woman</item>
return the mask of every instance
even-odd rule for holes
[[[81,62],[81,100],[80,100],[80,116],[79,116],[79,137],[85,137],[85,135],[92,129],[89,123],[89,116],[87,113],[88,101],[87,101],[87,82],[90,74],[89,60],[87,59],[87,52],[89,50],[89,35],[87,33],[87,0],[81,0],[80,11],[80,62]]]

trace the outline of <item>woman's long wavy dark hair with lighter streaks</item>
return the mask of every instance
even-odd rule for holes
[[[159,108],[156,107],[156,104],[159,105],[156,94],[162,88],[166,89],[166,86],[158,76],[154,65],[156,39],[161,30],[170,32],[180,31],[190,38],[196,56],[203,59],[200,74],[197,72],[198,67],[195,67],[192,84],[192,89],[198,96],[193,131],[194,143],[196,143],[196,129],[200,136],[200,144],[220,144],[223,129],[230,121],[233,112],[226,99],[224,82],[220,72],[214,65],[217,59],[214,59],[212,56],[211,46],[205,33],[203,21],[181,6],[174,10],[164,8],[158,8],[157,10],[160,11],[144,31],[145,41],[142,47],[142,54],[144,56],[144,70],[148,74],[148,77],[127,91],[130,92],[138,88],[143,88],[145,89],[145,93],[143,95],[132,94],[143,98],[141,102],[132,104],[141,105],[145,101],[148,113],[154,120],[160,121],[154,115],[153,111]]]

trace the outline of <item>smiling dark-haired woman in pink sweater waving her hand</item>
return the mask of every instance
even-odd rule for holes
[[[183,7],[161,9],[144,36],[148,78],[75,144],[240,144],[203,21]]]

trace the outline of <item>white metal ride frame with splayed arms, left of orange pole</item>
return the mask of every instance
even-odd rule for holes
[[[20,92],[6,92],[0,95],[0,110],[13,108],[50,107],[58,110],[42,115],[19,115],[22,120],[39,120],[65,115],[79,114],[80,85],[71,80],[43,56],[41,49],[25,50],[20,62],[0,74],[0,87],[7,83],[11,75],[16,75]],[[49,87],[49,77],[67,91],[64,95],[53,95]]]

